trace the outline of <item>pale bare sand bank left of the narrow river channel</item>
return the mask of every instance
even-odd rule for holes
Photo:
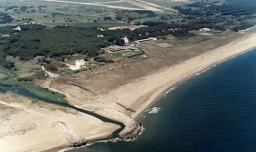
[[[68,131],[56,127],[60,122]],[[9,93],[0,96],[0,128],[0,152],[37,152],[68,147],[69,134],[105,138],[119,126],[70,108],[31,103],[27,97]]]

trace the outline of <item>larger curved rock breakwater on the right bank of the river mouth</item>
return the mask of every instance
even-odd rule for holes
[[[108,114],[110,117],[117,119],[125,125],[124,129],[117,135],[121,140],[135,139],[141,133],[141,123],[119,111],[110,108],[98,108],[95,109],[95,111]]]

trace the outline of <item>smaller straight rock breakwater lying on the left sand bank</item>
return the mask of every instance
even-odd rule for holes
[[[74,131],[69,129],[64,122],[53,122],[53,127],[60,129],[66,139],[69,141],[71,147],[80,147],[88,143],[88,141],[80,135],[77,135]]]

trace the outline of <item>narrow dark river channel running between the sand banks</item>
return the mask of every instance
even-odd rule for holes
[[[74,109],[74,110],[77,110],[81,113],[84,113],[84,114],[88,114],[88,115],[91,115],[95,118],[98,118],[100,119],[101,121],[103,122],[109,122],[109,123],[114,123],[116,125],[119,125],[120,128],[117,129],[115,132],[113,132],[108,138],[106,139],[115,139],[117,137],[117,135],[119,134],[120,131],[122,131],[125,127],[125,125],[122,123],[122,122],[117,122],[117,121],[114,121],[112,119],[109,119],[109,118],[106,118],[106,117],[103,117],[102,115],[99,115],[99,114],[96,114],[96,113],[93,113],[91,111],[88,111],[88,110],[84,110],[84,109],[80,109],[80,108],[77,108],[75,106],[72,106],[72,105],[69,105],[69,104],[62,104],[62,103],[56,103],[56,102],[52,102],[52,101],[49,101],[48,99],[44,99],[44,98],[41,98],[41,97],[38,97],[36,95],[34,95],[33,93],[25,90],[25,89],[21,89],[20,87],[18,86],[15,86],[15,87],[9,87],[9,86],[3,86],[3,85],[0,85],[0,89],[4,89],[4,90],[7,90],[7,91],[10,91],[12,93],[17,93],[18,95],[22,95],[22,96],[25,96],[25,97],[31,97],[31,98],[35,98],[35,99],[38,99],[40,101],[44,101],[44,102],[47,102],[47,103],[50,103],[50,104],[55,104],[55,105],[59,105],[59,106],[63,106],[63,107],[68,107],[68,108],[71,108],[71,109]],[[102,140],[102,139],[101,139]],[[97,140],[94,140],[94,141],[97,141]]]

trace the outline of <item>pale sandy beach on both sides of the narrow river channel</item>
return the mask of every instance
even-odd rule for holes
[[[136,119],[163,93],[190,76],[254,47],[256,47],[256,34],[244,32],[243,36],[236,37],[232,42],[212,50],[206,50],[190,59],[160,68],[157,72],[137,79],[128,81],[116,74],[113,81],[119,81],[118,79],[122,78],[118,85],[111,84],[111,82],[109,84],[102,83],[100,80],[95,81],[97,76],[102,78],[102,75],[104,76],[104,79],[101,79],[103,82],[110,80],[107,79],[106,72],[86,77],[86,81],[81,80],[84,76],[81,75],[73,76],[68,80],[59,78],[59,80],[48,81],[47,85],[45,83],[40,85],[42,87],[49,86],[52,90],[65,94],[66,100],[72,105],[85,110],[93,110],[106,118],[123,122],[126,128],[122,132],[129,134],[131,131],[140,130],[140,128],[136,128],[137,121],[132,118]],[[90,83],[91,80],[94,83]],[[83,89],[67,84],[66,81],[74,81],[87,86],[97,90],[101,95],[85,92]],[[102,87],[102,84],[105,86]],[[111,89],[108,86],[111,86]],[[104,92],[104,89],[107,91]],[[116,101],[136,109],[136,113],[118,106]],[[69,108],[53,106],[44,102],[31,104],[29,98],[17,97],[14,94],[1,95],[0,108],[9,111],[0,112],[0,116],[4,118],[3,123],[0,124],[0,127],[4,128],[0,134],[0,151],[48,151],[65,148],[71,145],[70,139],[73,140],[73,137],[75,140],[100,139],[111,135],[119,128],[118,125],[102,122],[88,114]],[[69,135],[72,135],[72,138]]]

